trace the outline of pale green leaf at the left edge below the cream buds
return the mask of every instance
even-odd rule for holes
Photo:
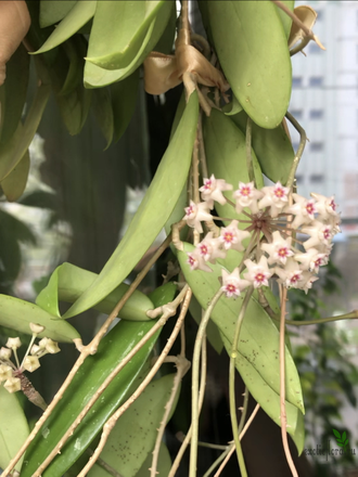
[[[29,434],[23,408],[16,395],[8,392],[0,385],[0,468],[5,468],[16,455]],[[15,465],[21,470],[24,456]]]

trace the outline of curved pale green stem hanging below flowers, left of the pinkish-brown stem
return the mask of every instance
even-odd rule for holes
[[[232,347],[231,347],[231,353],[230,353],[230,365],[229,365],[229,403],[230,403],[230,417],[231,417],[231,427],[232,427],[232,434],[233,434],[233,440],[235,443],[236,449],[236,455],[238,455],[238,462],[240,467],[240,473],[242,477],[247,477],[244,455],[242,453],[241,443],[240,443],[240,437],[239,437],[239,430],[238,430],[238,416],[236,416],[236,403],[235,403],[235,359],[238,357],[238,345],[239,345],[239,338],[240,338],[240,332],[242,322],[244,320],[246,309],[250,302],[250,298],[254,292],[253,287],[250,287],[246,292],[245,298],[243,300],[243,304],[241,306],[241,310],[239,313],[239,318],[235,325],[235,331],[232,339]]]

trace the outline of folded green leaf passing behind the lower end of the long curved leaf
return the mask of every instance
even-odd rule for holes
[[[97,278],[97,273],[72,263],[63,263],[54,270],[49,284],[38,295],[36,304],[43,310],[60,317],[59,301],[75,302]],[[128,288],[129,285],[122,283],[94,308],[102,313],[110,314]],[[149,321],[145,313],[153,308],[152,300],[136,289],[120,310],[119,317],[130,321]]]

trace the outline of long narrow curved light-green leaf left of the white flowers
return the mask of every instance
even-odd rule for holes
[[[194,93],[125,236],[98,279],[64,318],[74,317],[93,307],[118,286],[163,229],[188,177],[196,132],[197,105],[197,95]]]

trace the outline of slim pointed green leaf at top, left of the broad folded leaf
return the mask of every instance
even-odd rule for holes
[[[92,18],[95,8],[97,1],[94,0],[77,1],[42,47],[33,54],[44,53],[68,40],[68,38],[75,35],[89,20]]]

